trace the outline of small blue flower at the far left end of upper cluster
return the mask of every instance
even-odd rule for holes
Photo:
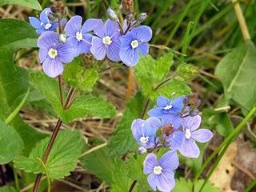
[[[58,22],[52,22],[49,19],[49,15],[52,14],[50,8],[42,10],[40,14],[40,20],[38,18],[29,17],[30,24],[33,26],[38,34],[42,34],[46,31],[54,31],[58,27]]]

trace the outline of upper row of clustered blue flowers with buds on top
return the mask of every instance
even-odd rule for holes
[[[67,22],[50,8],[42,10],[40,18],[30,17],[30,24],[41,35],[38,47],[44,72],[55,78],[62,74],[63,64],[80,54],[93,54],[96,60],[122,61],[126,66],[136,65],[140,54],[148,54],[152,30],[139,26],[146,14],[137,19],[129,16],[123,23],[110,8],[107,14],[110,19],[106,22],[90,18],[83,24],[81,16],[73,16]]]

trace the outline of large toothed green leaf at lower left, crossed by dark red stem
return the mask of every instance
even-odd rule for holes
[[[46,150],[46,146],[50,141],[50,137],[42,139],[30,152],[29,158],[18,156],[14,159],[14,166],[28,173],[45,173],[45,169],[38,161],[42,159]],[[64,178],[74,170],[77,160],[82,153],[83,141],[78,131],[65,130],[61,131],[54,146],[50,152],[46,169],[51,179]]]

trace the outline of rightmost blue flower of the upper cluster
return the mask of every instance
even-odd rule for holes
[[[152,38],[152,30],[149,26],[138,26],[130,30],[121,38],[120,58],[126,66],[137,64],[139,54],[149,53],[148,42]]]

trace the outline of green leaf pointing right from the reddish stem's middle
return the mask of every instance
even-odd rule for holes
[[[76,118],[83,118],[87,116],[113,118],[115,114],[115,107],[104,98],[82,95],[75,99],[69,109],[63,111],[61,117],[64,122],[71,122]]]

